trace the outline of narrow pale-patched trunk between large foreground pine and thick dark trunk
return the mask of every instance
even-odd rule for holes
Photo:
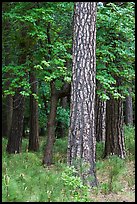
[[[106,101],[101,99],[96,94],[96,141],[105,141],[105,129],[106,129]]]

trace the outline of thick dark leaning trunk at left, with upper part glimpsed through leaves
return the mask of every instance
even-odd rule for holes
[[[18,58],[18,64],[22,65],[26,62],[27,50],[25,42],[25,29],[20,32],[20,43],[19,48],[21,54]],[[20,81],[22,77],[20,77]],[[21,144],[22,144],[22,135],[23,135],[23,120],[24,120],[24,107],[25,107],[25,98],[20,94],[22,87],[15,88],[15,95],[13,97],[13,113],[12,113],[12,124],[9,134],[7,152],[8,153],[20,153]]]

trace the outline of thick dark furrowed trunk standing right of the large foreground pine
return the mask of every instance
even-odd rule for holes
[[[115,154],[125,158],[123,102],[111,98],[106,105],[106,141],[104,157]]]

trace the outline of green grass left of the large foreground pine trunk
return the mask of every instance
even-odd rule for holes
[[[54,162],[51,167],[42,166],[43,152],[27,152],[27,139],[23,139],[23,152],[9,155],[5,152],[7,140],[3,139],[2,198],[3,202],[67,202],[88,199],[84,191],[76,193],[77,178],[67,184],[67,169],[63,163],[66,154],[66,140],[58,139],[54,148]],[[42,141],[42,146],[43,146]],[[59,150],[59,147],[60,150]],[[40,149],[43,149],[41,147]],[[60,152],[58,152],[60,151]],[[69,177],[68,177],[69,178]],[[71,188],[72,183],[77,185]],[[83,188],[81,185],[80,188]],[[80,191],[80,189],[79,189]]]

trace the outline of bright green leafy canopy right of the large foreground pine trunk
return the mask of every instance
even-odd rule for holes
[[[115,3],[97,11],[97,93],[102,100],[124,97],[135,79],[134,3]]]

